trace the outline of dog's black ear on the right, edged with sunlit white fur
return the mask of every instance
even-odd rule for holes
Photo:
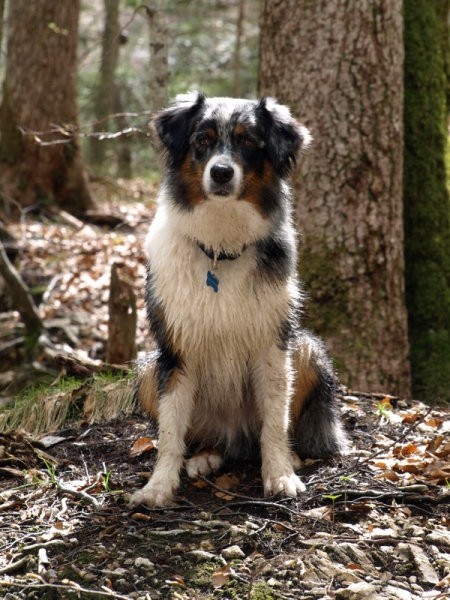
[[[308,129],[293,118],[287,106],[274,98],[262,98],[256,106],[264,132],[266,149],[277,172],[284,177],[295,164],[298,152],[311,140]]]

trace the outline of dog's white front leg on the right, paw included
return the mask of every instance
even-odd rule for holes
[[[257,360],[253,385],[260,411],[261,462],[266,496],[282,492],[296,496],[305,486],[294,473],[289,448],[288,425],[291,398],[289,353],[272,346]]]

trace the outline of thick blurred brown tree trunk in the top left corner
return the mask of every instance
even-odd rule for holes
[[[3,190],[21,206],[57,202],[75,213],[93,206],[71,135],[78,118],[78,13],[79,0],[9,3],[0,174]],[[42,145],[38,138],[64,143]]]

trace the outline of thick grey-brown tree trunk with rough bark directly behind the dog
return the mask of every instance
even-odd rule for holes
[[[296,178],[305,322],[343,383],[409,395],[398,0],[265,0],[260,89],[315,141]]]

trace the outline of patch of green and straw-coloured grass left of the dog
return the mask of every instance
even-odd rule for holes
[[[132,374],[65,377],[31,385],[18,394],[12,406],[0,411],[0,431],[56,431],[71,422],[94,423],[130,414],[135,404]]]

